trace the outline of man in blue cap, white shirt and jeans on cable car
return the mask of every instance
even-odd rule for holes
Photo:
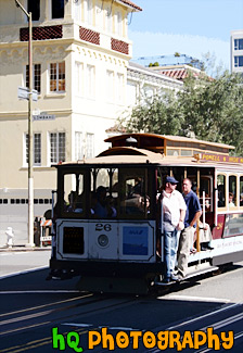
[[[178,232],[184,227],[187,205],[182,194],[176,190],[179,181],[168,176],[165,179],[165,189],[162,192],[162,232],[164,234],[164,282],[178,280],[174,274],[177,256]]]

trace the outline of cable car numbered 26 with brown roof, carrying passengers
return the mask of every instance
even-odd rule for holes
[[[80,290],[148,292],[165,269],[158,196],[166,176],[190,178],[202,204],[189,276],[243,259],[243,157],[232,146],[178,136],[125,134],[97,157],[61,163],[53,206],[52,276]],[[208,225],[210,247],[200,237]],[[202,251],[203,250],[203,251]]]

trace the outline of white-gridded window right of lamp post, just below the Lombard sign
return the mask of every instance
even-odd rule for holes
[[[65,133],[50,133],[50,162],[65,162],[66,135]]]

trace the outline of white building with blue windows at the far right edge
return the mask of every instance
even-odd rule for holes
[[[243,29],[231,30],[231,72],[243,74]]]

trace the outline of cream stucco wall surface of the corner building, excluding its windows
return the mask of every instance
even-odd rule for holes
[[[27,2],[21,1],[25,7]],[[81,2],[82,3],[82,2]],[[108,1],[104,2],[106,5]],[[102,5],[102,2],[100,2]],[[84,7],[84,3],[82,3]],[[40,21],[34,26],[63,25],[63,38],[36,40],[33,42],[33,62],[41,64],[41,93],[33,110],[55,115],[54,121],[34,122],[33,131],[41,133],[41,166],[34,166],[34,187],[38,189],[55,188],[55,171],[50,167],[49,133],[66,134],[66,161],[75,157],[75,131],[84,136],[94,134],[94,154],[107,146],[105,129],[114,125],[115,119],[126,106],[126,70],[130,55],[111,50],[111,34],[105,30],[105,13],[99,27],[100,46],[79,39],[79,25],[74,20],[74,2],[65,3],[63,20],[50,18],[50,3],[40,1]],[[17,98],[17,87],[25,86],[25,67],[28,64],[28,43],[20,41],[20,28],[27,27],[26,16],[17,9],[14,1],[0,0],[0,188],[27,188],[27,165],[25,164],[24,136],[28,130],[27,100]],[[123,11],[123,38],[115,33],[114,38],[127,39],[126,8],[113,4],[113,13]],[[93,26],[95,28],[97,8],[93,9]],[[88,26],[89,27],[89,26]],[[113,29],[114,29],[113,23]],[[65,61],[66,90],[64,93],[49,92],[49,65],[52,62]],[[75,92],[75,62],[95,67],[95,96],[93,99],[77,96]],[[124,101],[107,99],[106,70],[124,75]]]

